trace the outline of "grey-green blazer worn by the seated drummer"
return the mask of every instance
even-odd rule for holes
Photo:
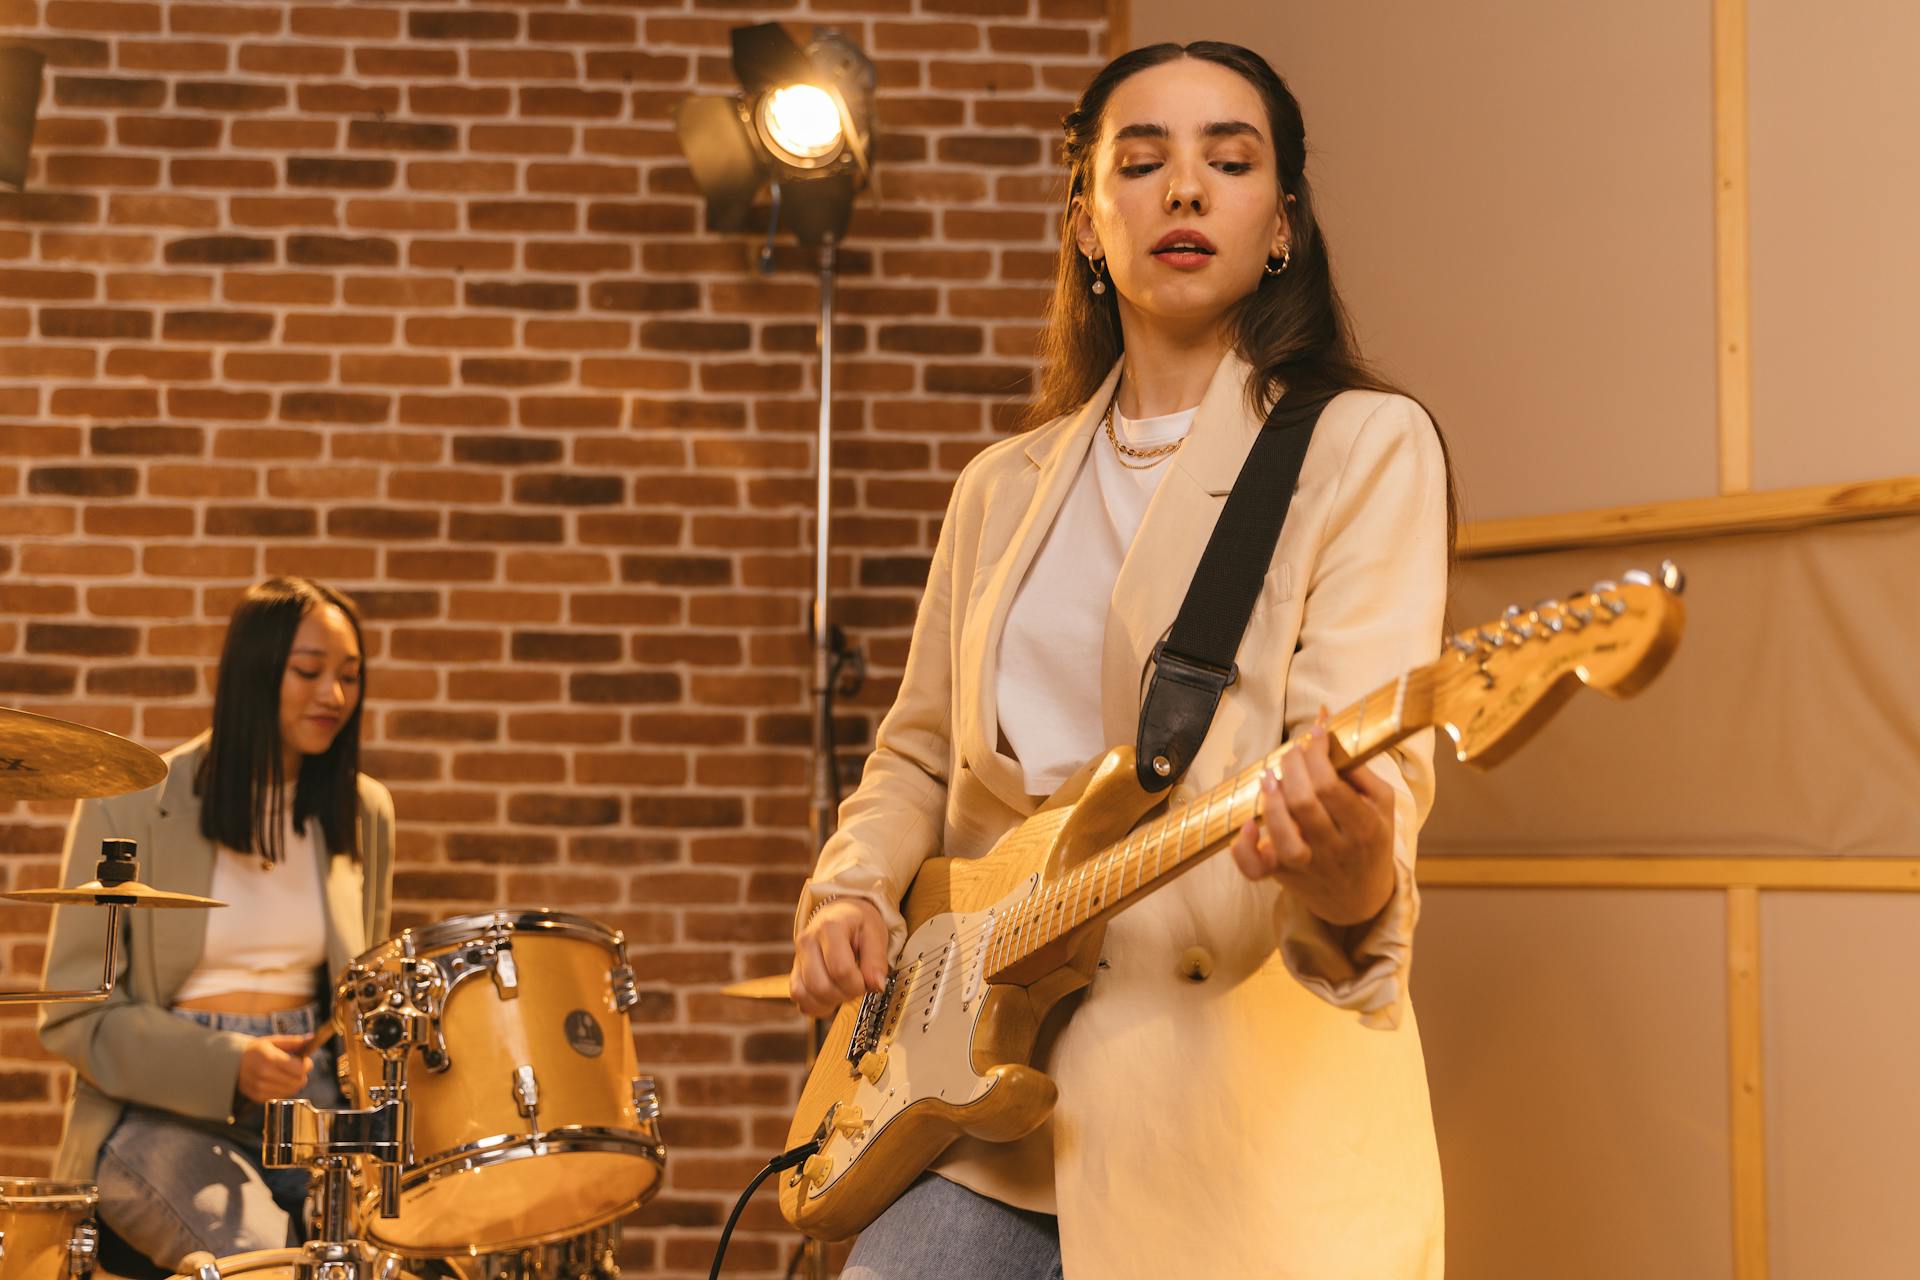
[[[83,800],[67,827],[61,885],[94,877],[100,841],[140,844],[140,879],[156,889],[205,894],[213,885],[215,846],[200,835],[194,773],[207,735],[167,752],[167,781],[108,800]],[[386,936],[394,887],[394,796],[359,779],[361,862],[334,854],[326,869],[326,971]],[[67,1128],[54,1163],[56,1178],[88,1180],[100,1144],[131,1103],[225,1121],[246,1036],[207,1031],[167,1009],[180,983],[200,963],[207,938],[205,912],[125,912],[113,948],[113,994],[102,1004],[40,1006],[40,1042],[75,1067]],[[46,984],[92,986],[106,950],[106,912],[65,906],[54,912]]]

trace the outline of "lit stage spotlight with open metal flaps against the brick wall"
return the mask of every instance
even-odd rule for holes
[[[745,230],[768,192],[764,271],[781,226],[812,248],[845,238],[872,180],[874,63],[833,31],[803,50],[780,23],[762,23],[733,29],[733,75],[741,92],[685,98],[674,125],[708,230]]]

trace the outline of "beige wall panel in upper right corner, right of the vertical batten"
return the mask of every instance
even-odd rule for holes
[[[1920,6],[1749,4],[1753,482],[1920,474]]]

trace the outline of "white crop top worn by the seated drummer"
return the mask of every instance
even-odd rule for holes
[[[207,912],[200,963],[175,1002],[225,992],[313,994],[313,971],[326,961],[326,904],[315,854],[319,819],[296,831],[292,804],[280,835],[280,862],[219,846],[207,896],[227,906]]]

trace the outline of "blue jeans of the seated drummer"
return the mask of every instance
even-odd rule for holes
[[[311,1034],[324,1025],[319,1004],[288,1013],[173,1009],[215,1031],[246,1036]],[[313,1054],[296,1094],[317,1107],[346,1105],[334,1077],[334,1046]],[[215,1257],[298,1244],[305,1224],[307,1171],[267,1169],[259,1146],[267,1109],[240,1102],[232,1125],[129,1105],[100,1148],[100,1221],[159,1267],[179,1270],[196,1249]]]

